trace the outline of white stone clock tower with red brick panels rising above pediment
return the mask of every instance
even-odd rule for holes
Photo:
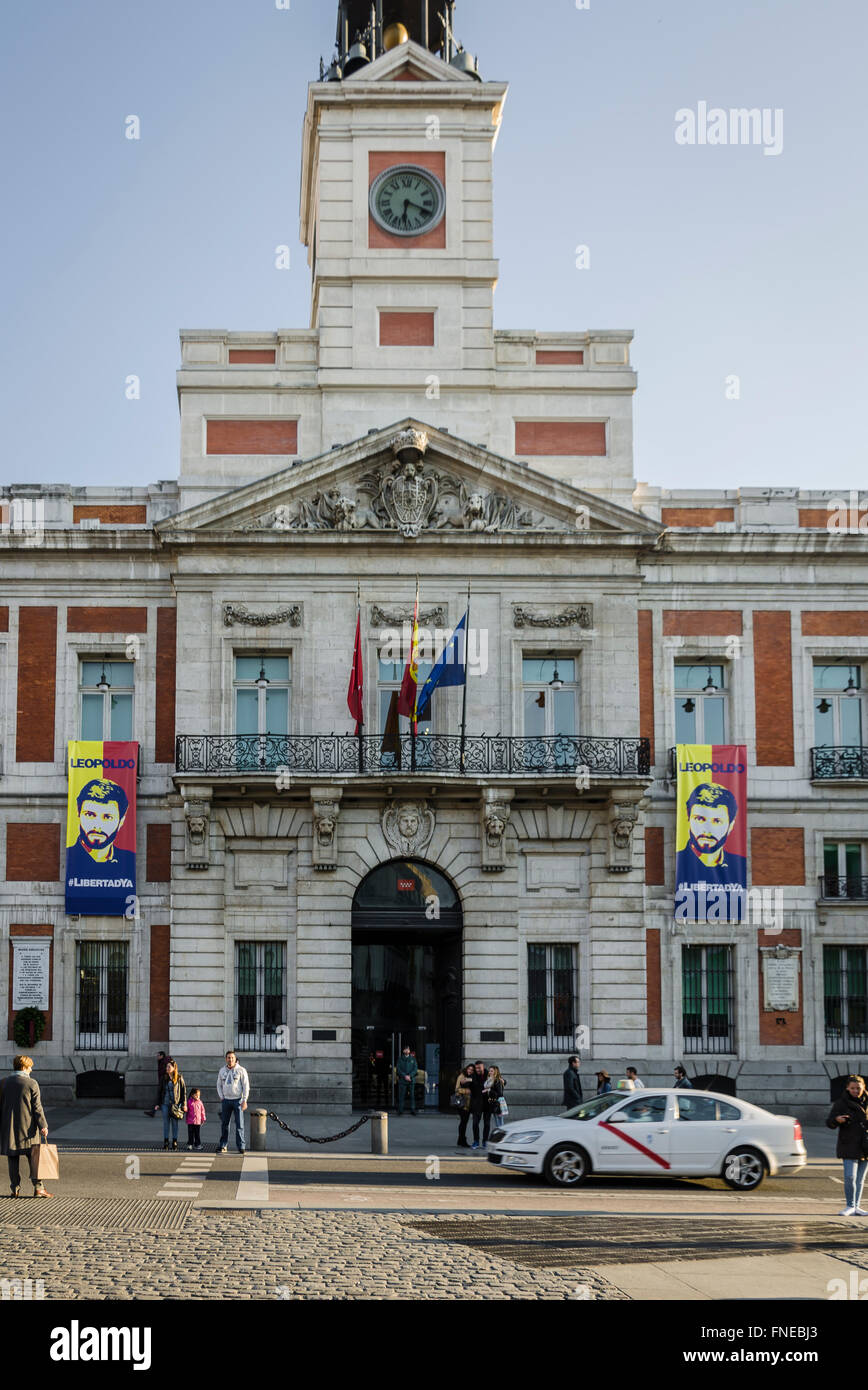
[[[456,406],[460,432],[488,435],[472,417],[495,366],[492,158],[508,89],[456,43],[453,8],[341,0],[335,58],[310,86],[300,236],[324,439],[357,436],[369,411],[370,425],[437,424]]]

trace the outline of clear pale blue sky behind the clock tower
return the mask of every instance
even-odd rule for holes
[[[3,7],[1,482],[177,477],[178,329],[307,325],[300,125],[335,11]],[[511,82],[495,325],[634,329],[640,480],[862,485],[864,0],[459,0],[456,31]],[[782,153],[677,145],[700,101],[780,108]]]

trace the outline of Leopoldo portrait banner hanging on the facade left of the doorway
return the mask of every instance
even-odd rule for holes
[[[67,753],[67,912],[134,916],[138,744],[71,742]]]

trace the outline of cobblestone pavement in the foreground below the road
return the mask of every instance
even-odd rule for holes
[[[0,1230],[0,1279],[51,1298],[626,1298],[590,1269],[529,1269],[376,1212],[193,1211],[178,1232]],[[504,1216],[479,1216],[502,1229]],[[462,1218],[466,1223],[467,1218]]]

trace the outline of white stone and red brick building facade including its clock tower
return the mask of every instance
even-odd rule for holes
[[[431,1105],[476,1056],[513,1113],[554,1105],[579,1047],[588,1084],[683,1061],[817,1115],[868,1052],[861,513],[636,484],[632,335],[494,329],[506,88],[408,28],[310,86],[310,327],[182,332],[178,481],[3,492],[8,1052],[14,952],[47,938],[51,1099],[140,1104],[157,1048],[207,1083],[234,1044],[262,1098],[339,1112],[412,1041]],[[383,225],[395,170],[440,222]],[[384,751],[417,581],[433,652],[470,587],[466,739],[452,688]],[[64,912],[96,664],[139,745],[129,917]],[[765,923],[675,920],[690,741],[747,745]]]

